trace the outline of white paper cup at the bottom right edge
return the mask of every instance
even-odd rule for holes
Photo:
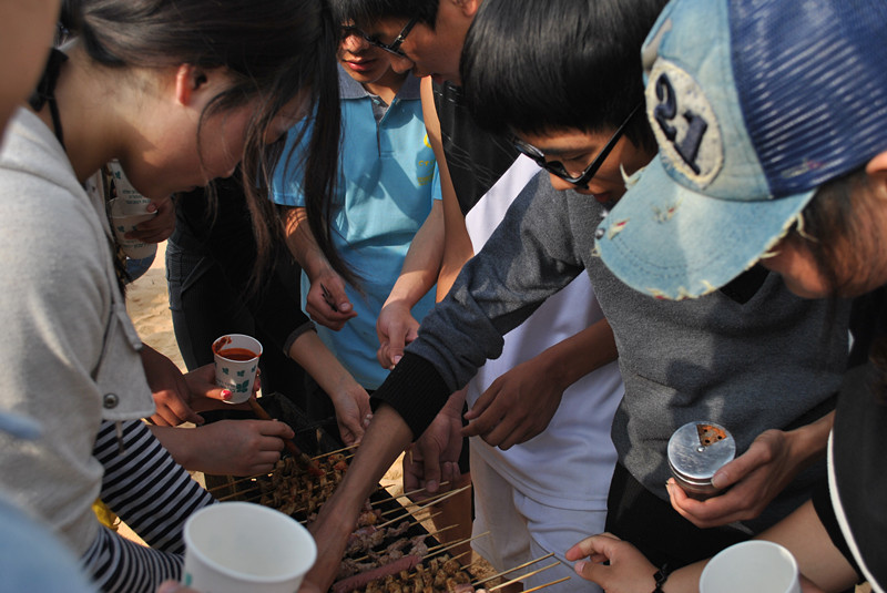
[[[801,593],[797,562],[778,543],[763,540],[717,553],[700,577],[700,593]]]

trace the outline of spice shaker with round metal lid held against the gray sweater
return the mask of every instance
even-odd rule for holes
[[[714,422],[690,422],[669,439],[669,467],[686,494],[696,500],[713,497],[715,472],[736,457],[733,436]]]

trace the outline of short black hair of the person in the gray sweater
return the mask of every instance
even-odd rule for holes
[[[496,133],[618,127],[643,101],[641,47],[665,0],[485,0],[460,64],[466,99]],[[625,134],[655,150],[645,117]]]

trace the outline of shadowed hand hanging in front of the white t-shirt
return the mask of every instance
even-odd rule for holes
[[[527,442],[548,427],[563,397],[563,388],[532,358],[506,372],[466,413],[467,437],[480,436],[491,447],[507,451]]]

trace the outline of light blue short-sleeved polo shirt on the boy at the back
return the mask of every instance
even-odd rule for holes
[[[317,333],[361,386],[376,389],[388,375],[376,360],[376,318],[414,235],[431,212],[437,163],[425,131],[417,78],[407,76],[378,124],[373,95],[341,69],[339,91],[343,143],[332,239],[361,278],[364,294],[346,286],[357,317],[339,331],[318,326]],[[299,153],[285,166],[297,134],[298,126],[287,136],[272,196],[277,204],[304,207],[302,173],[295,164]],[[303,274],[303,308],[309,287]],[[414,307],[414,317],[421,320],[432,306],[430,290]]]

